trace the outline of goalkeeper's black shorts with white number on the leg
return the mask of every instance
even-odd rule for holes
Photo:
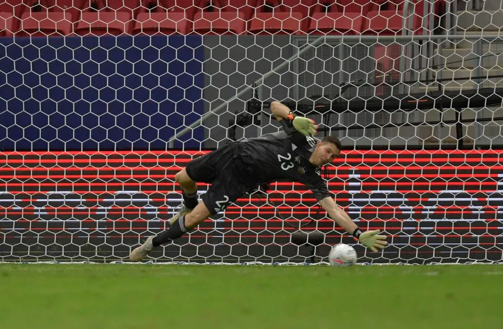
[[[185,168],[190,179],[211,184],[202,199],[212,215],[255,188],[243,181],[243,165],[236,147],[236,143],[229,143],[191,160]]]

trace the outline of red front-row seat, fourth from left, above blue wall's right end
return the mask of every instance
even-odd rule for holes
[[[146,12],[138,14],[132,34],[187,34],[190,26],[183,12]]]

